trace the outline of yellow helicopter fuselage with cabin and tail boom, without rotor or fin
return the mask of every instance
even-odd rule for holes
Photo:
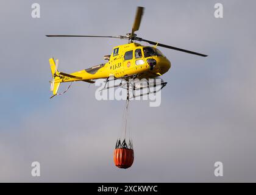
[[[72,82],[78,80],[122,78],[137,75],[138,78],[150,79],[165,74],[171,68],[171,62],[157,48],[128,43],[116,46],[107,58],[107,63],[71,73],[79,77],[60,77],[55,82]]]

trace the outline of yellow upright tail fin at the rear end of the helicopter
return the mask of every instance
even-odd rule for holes
[[[51,72],[52,72],[51,91],[52,91],[53,96],[51,96],[51,98],[53,98],[55,95],[58,94],[58,90],[60,87],[60,82],[55,82],[55,80],[60,79],[59,71],[58,71],[59,60],[56,60],[56,63],[55,63],[54,59],[51,58],[51,59],[49,59],[49,63],[50,63]]]

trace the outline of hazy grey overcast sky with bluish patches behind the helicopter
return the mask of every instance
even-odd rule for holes
[[[31,17],[40,4],[41,18]],[[216,2],[224,18],[214,16]],[[160,107],[130,102],[135,160],[113,164],[125,101],[97,101],[76,82],[49,99],[48,59],[71,73],[104,63],[145,7],[139,37],[208,54],[159,48],[172,63]],[[0,182],[256,182],[255,1],[1,1]],[[145,45],[148,45],[144,43]],[[66,85],[60,90],[65,89]],[[32,177],[39,161],[41,177]],[[215,177],[222,161],[224,177]]]

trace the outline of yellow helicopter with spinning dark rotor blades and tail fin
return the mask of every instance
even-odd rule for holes
[[[133,23],[132,32],[126,35],[119,36],[95,36],[95,35],[46,35],[46,37],[104,37],[104,38],[119,38],[127,39],[127,44],[122,44],[113,48],[111,55],[105,55],[104,59],[107,63],[92,66],[91,68],[83,69],[75,73],[66,74],[58,71],[59,60],[54,61],[49,59],[52,72],[51,91],[53,98],[59,94],[59,86],[62,82],[84,81],[94,83],[96,79],[154,79],[165,74],[171,68],[171,62],[157,49],[158,47],[174,49],[177,51],[187,52],[189,54],[207,57],[207,55],[197,52],[188,51],[185,49],[175,48],[166,44],[157,43],[154,41],[145,40],[137,37],[136,32],[141,23],[144,7],[137,7],[135,21]],[[133,41],[144,41],[154,46],[143,46]],[[160,82],[162,87],[165,87],[166,82]],[[69,85],[70,87],[70,85]],[[69,88],[68,87],[68,88]],[[118,86],[116,86],[118,87]],[[128,88],[127,88],[128,90]],[[65,90],[63,93],[65,93]],[[61,94],[63,94],[61,93]]]

